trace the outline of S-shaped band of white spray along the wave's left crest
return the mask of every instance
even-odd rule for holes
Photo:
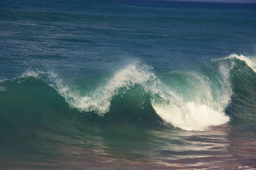
[[[114,74],[107,85],[99,87],[92,96],[82,96],[79,92],[65,86],[60,79],[55,81],[55,84],[59,94],[65,97],[71,107],[79,111],[94,111],[103,116],[109,111],[111,100],[120,93],[121,88],[127,91],[137,84],[142,85],[146,91],[158,93],[156,86],[160,81],[148,67],[139,69],[137,65],[129,65]]]

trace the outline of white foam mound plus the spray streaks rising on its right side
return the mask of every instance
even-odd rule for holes
[[[206,130],[210,126],[222,125],[229,121],[229,117],[224,111],[230,102],[232,88],[229,82],[229,71],[233,68],[221,65],[221,95],[216,97],[214,89],[210,88],[210,83],[202,77],[195,75],[201,85],[199,88],[192,88],[198,95],[185,101],[177,96],[173,91],[169,96],[161,96],[167,102],[159,102],[152,99],[151,103],[156,113],[164,122],[179,127],[183,130]],[[219,90],[219,89],[218,89]],[[215,96],[215,97],[213,97]]]

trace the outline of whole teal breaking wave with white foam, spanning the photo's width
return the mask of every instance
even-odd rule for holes
[[[97,85],[90,84],[92,80],[87,80],[87,83],[68,83],[54,72],[27,71],[17,79],[0,82],[0,99],[15,102],[22,100],[20,96],[24,93],[32,94],[42,88],[44,92],[36,92],[41,95],[36,98],[44,100],[43,95],[55,93],[52,91],[55,89],[70,108],[84,114],[93,112],[105,117],[106,113],[116,114],[114,112],[121,112],[122,108],[128,106],[133,108],[123,110],[129,112],[128,116],[137,113],[137,119],[142,119],[142,115],[158,115],[164,124],[183,130],[201,131],[225,124],[230,118],[241,117],[241,109],[254,117],[250,112],[254,101],[256,102],[253,59],[232,54],[206,65],[198,65],[192,70],[196,71],[175,71],[157,76],[152,68],[135,63],[109,78],[105,77]],[[84,83],[87,87],[83,86]],[[38,84],[40,88],[36,87]],[[14,91],[17,90],[15,94]],[[59,100],[55,94],[50,96]],[[15,99],[8,100],[8,97]],[[43,103],[47,105],[46,101],[35,104],[32,97],[28,99],[24,96],[24,99],[31,100],[26,102],[30,104],[25,108],[36,109],[35,105]],[[6,102],[1,103],[3,108]],[[4,111],[8,112],[8,107],[12,107],[12,104],[7,103],[6,106]],[[157,118],[154,119],[157,121]]]

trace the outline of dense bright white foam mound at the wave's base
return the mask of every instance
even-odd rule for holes
[[[167,123],[183,130],[206,130],[209,126],[222,125],[229,121],[224,112],[194,102],[177,105],[154,105],[154,110]]]

